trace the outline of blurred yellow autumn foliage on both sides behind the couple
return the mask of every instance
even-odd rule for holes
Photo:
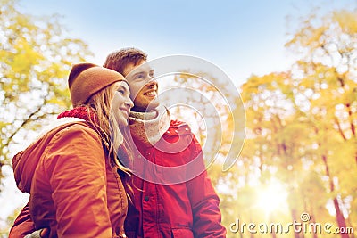
[[[17,11],[17,1],[0,3],[3,181],[4,171],[11,169],[11,149],[26,144],[46,119],[70,106],[66,78],[71,64],[92,53],[81,39],[65,37],[58,16],[24,15]],[[229,227],[237,219],[255,224],[301,222],[303,212],[309,213],[310,222],[357,230],[357,12],[305,16],[300,28],[290,32],[286,49],[297,59],[290,70],[252,75],[240,88],[247,134],[239,160],[226,173],[220,164],[209,168],[228,237],[283,237],[235,234]],[[185,84],[195,78],[176,80]],[[188,83],[207,94],[214,91],[197,81]],[[214,92],[211,96],[220,105],[220,97]],[[219,108],[222,115],[228,111]],[[185,111],[174,114],[185,118]],[[231,135],[232,121],[226,121],[222,134]],[[204,134],[199,135],[203,141]],[[226,152],[223,146],[220,153]],[[7,227],[2,229],[5,237]],[[355,235],[292,231],[284,237]]]

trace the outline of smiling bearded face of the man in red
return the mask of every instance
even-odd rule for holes
[[[130,88],[130,97],[134,102],[133,111],[150,111],[159,105],[158,85],[153,80],[154,70],[145,61],[137,65],[129,64],[124,69]],[[144,65],[143,65],[144,64]]]

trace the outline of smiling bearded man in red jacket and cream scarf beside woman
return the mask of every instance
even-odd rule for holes
[[[129,238],[226,237],[220,223],[220,199],[204,169],[202,148],[186,123],[170,120],[170,112],[158,101],[158,84],[152,80],[153,70],[145,65],[146,60],[144,52],[125,48],[109,54],[104,63],[127,78],[134,102],[129,124],[138,153],[134,165],[129,165],[133,186],[125,233]],[[173,148],[179,147],[182,150],[175,152]],[[182,173],[168,174],[163,167],[183,169]],[[190,169],[200,173],[185,179]],[[182,178],[180,183],[172,183],[177,176]],[[33,232],[26,208],[16,222],[17,229],[27,229],[25,234]]]

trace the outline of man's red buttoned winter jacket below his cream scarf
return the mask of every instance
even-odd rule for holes
[[[226,237],[226,229],[220,223],[219,197],[204,169],[201,146],[187,124],[171,121],[168,131],[154,146],[140,144],[135,137],[134,142],[142,156],[150,162],[177,169],[171,169],[170,173],[170,169],[168,172],[148,164],[135,167],[137,171],[134,172],[138,176],[134,176],[134,184],[138,189],[134,189],[134,204],[129,204],[125,220],[127,236]],[[194,164],[178,168],[193,160]],[[137,158],[134,163],[136,161]],[[147,175],[150,171],[155,179],[161,176],[162,184],[146,181],[151,179],[151,175]],[[171,182],[171,185],[165,185],[166,182]]]

